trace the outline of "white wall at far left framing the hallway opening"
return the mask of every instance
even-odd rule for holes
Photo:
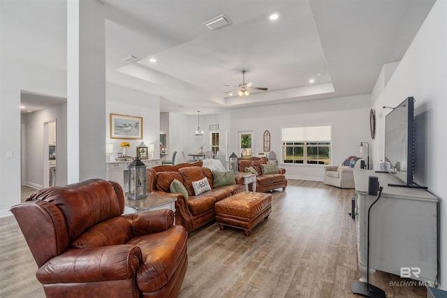
[[[0,38],[2,49],[11,43]],[[20,203],[20,91],[66,97],[66,73],[4,52],[0,61],[0,216],[6,216],[11,206]],[[13,158],[5,158],[7,151],[13,152]]]

